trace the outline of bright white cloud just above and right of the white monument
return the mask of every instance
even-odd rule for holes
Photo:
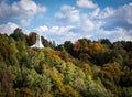
[[[73,29],[75,26],[73,25],[67,25],[67,26],[51,26],[47,28],[46,25],[44,26],[38,26],[35,29],[36,33],[43,35],[50,41],[55,41],[57,44],[64,43],[67,40],[75,41],[77,40],[76,33],[73,32]],[[44,31],[44,33],[42,33]]]

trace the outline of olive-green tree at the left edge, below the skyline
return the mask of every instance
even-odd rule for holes
[[[9,65],[19,65],[16,60],[16,43],[12,37],[7,35],[0,35],[0,54],[3,57],[3,61]]]

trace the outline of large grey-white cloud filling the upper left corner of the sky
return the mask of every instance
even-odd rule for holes
[[[36,13],[45,12],[46,8],[36,4],[33,0],[20,0],[13,2],[11,6],[2,1],[0,3],[0,19],[12,20],[12,19],[26,19],[32,18]]]

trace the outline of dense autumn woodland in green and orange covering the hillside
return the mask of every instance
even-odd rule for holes
[[[79,39],[31,48],[35,32],[0,34],[0,97],[132,97],[132,42]]]

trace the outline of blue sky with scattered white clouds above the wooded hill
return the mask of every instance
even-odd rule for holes
[[[62,44],[132,41],[132,0],[0,0],[0,33],[20,28]]]

